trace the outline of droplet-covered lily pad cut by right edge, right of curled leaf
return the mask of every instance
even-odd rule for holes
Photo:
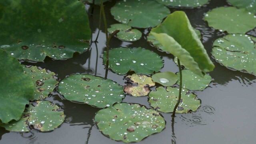
[[[254,40],[253,40],[254,39]],[[244,34],[229,34],[217,39],[212,55],[220,64],[256,75],[256,38]]]

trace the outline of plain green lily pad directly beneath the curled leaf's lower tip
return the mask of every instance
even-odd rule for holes
[[[178,82],[180,84],[180,73],[177,73]],[[208,74],[204,75],[202,78],[194,74],[191,70],[182,70],[182,88],[188,90],[204,90],[209,86],[212,81],[212,77]]]

